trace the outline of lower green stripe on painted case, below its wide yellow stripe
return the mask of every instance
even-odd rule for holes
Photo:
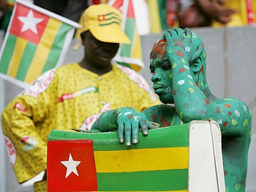
[[[128,180],[129,183],[127,183]],[[184,190],[188,189],[188,169],[130,173],[97,173],[97,183],[98,191],[113,191],[113,185],[115,185],[115,191]],[[143,185],[143,183],[147,183],[147,185]]]

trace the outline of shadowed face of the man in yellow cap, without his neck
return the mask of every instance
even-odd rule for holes
[[[119,44],[100,42],[90,31],[86,32],[82,40],[86,59],[95,63],[96,67],[109,65],[119,47]]]

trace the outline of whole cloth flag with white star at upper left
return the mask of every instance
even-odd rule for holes
[[[26,87],[62,64],[79,24],[17,0],[0,52],[0,77]]]

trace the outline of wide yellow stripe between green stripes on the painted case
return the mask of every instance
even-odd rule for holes
[[[94,157],[97,173],[187,169],[189,148],[166,147],[95,151]]]

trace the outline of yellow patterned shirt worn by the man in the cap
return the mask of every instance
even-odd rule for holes
[[[2,127],[6,148],[19,183],[46,170],[47,136],[52,129],[90,129],[109,109],[142,111],[160,104],[143,77],[113,65],[98,76],[70,63],[53,68],[6,106]]]

